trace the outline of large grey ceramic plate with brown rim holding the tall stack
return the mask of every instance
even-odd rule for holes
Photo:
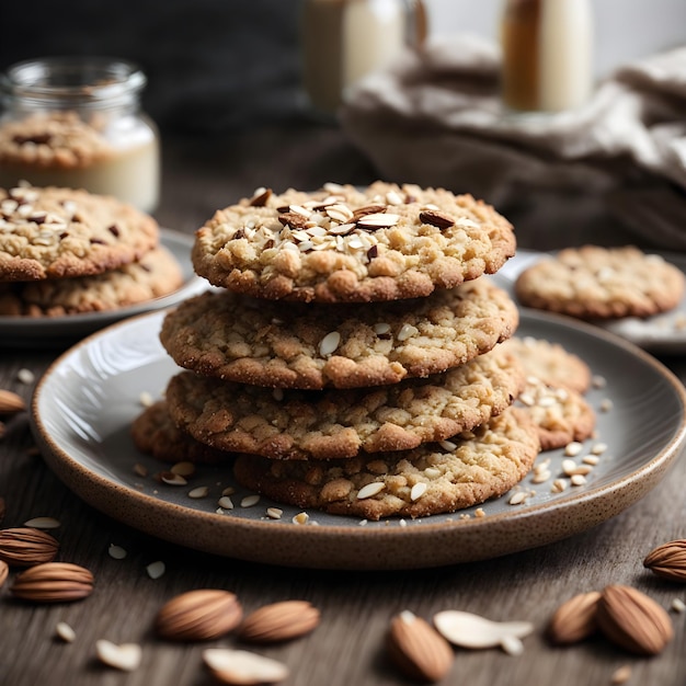
[[[273,503],[217,513],[221,491],[232,484],[228,468],[198,467],[187,487],[160,484],[134,472],[137,462],[152,475],[159,462],[137,453],[129,425],[141,411],[144,392],[158,396],[178,367],[158,342],[163,312],[114,324],[66,352],[36,389],[33,430],[47,464],[93,507],[152,536],[220,556],[291,567],[409,569],[498,557],[571,536],[636,503],[665,475],[686,436],[686,392],[678,379],[640,348],[599,329],[565,318],[527,312],[521,335],[562,343],[587,361],[607,386],[588,400],[598,410],[598,439],[608,445],[587,483],[552,493],[550,483],[519,488],[536,493],[522,505],[508,495],[459,514],[421,521],[361,522],[283,507],[278,521],[265,516]],[[586,449],[591,444],[586,445]],[[560,450],[545,454],[557,476]],[[579,459],[579,458],[578,458]],[[192,488],[208,495],[193,500]],[[315,523],[317,525],[315,525]]]

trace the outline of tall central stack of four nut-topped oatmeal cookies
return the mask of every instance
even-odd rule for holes
[[[236,480],[277,503],[369,519],[503,494],[540,447],[500,345],[518,311],[487,276],[514,250],[510,222],[469,195],[258,191],[196,233],[195,271],[218,288],[165,317],[187,370],[136,444],[155,451],[165,426],[165,445],[235,456]]]

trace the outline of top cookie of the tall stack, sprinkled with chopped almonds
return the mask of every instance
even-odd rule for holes
[[[512,225],[470,195],[376,182],[367,188],[263,191],[196,232],[195,271],[268,298],[369,302],[418,298],[496,272]]]

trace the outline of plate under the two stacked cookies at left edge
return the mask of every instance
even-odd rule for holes
[[[209,288],[209,284],[193,272],[191,264],[193,236],[160,229],[160,242],[176,258],[183,272],[183,285],[174,293],[105,312],[43,318],[2,316],[0,317],[0,347],[65,348],[93,331],[121,319],[176,305]]]

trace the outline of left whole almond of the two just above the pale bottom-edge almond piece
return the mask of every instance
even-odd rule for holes
[[[236,595],[220,588],[198,588],[169,601],[156,618],[157,632],[174,641],[216,639],[238,627],[243,610]]]

